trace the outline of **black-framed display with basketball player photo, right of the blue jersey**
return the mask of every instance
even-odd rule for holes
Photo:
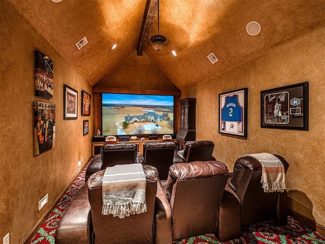
[[[261,127],[308,131],[309,83],[282,86],[261,92]]]

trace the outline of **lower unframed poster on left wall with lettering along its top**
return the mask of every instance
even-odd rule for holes
[[[55,104],[34,102],[34,154],[55,146]]]

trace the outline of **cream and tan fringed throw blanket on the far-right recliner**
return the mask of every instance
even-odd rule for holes
[[[262,165],[261,183],[264,192],[284,192],[284,166],[282,162],[272,154],[248,154],[259,161]]]

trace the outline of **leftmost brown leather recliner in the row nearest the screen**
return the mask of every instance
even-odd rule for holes
[[[117,164],[142,163],[136,143],[118,143],[102,146],[101,155],[96,156],[86,170],[85,181],[90,175]]]

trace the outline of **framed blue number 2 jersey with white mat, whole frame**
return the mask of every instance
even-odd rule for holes
[[[219,133],[247,138],[248,88],[219,94]]]

